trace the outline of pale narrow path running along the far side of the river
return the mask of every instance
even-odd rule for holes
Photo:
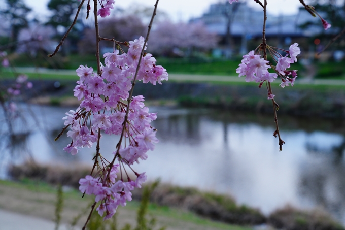
[[[16,68],[17,72],[22,73],[42,73],[42,74],[56,74],[56,75],[76,75],[74,70],[52,70],[46,68]],[[77,75],[76,75],[77,77]],[[169,79],[174,81],[195,81],[195,82],[245,82],[244,77],[237,76],[218,76],[218,75],[194,75],[194,74],[169,74]],[[278,83],[278,81],[277,81]],[[345,80],[333,79],[298,79],[296,84],[304,85],[345,85]]]

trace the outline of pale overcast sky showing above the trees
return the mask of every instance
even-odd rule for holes
[[[47,3],[49,0],[24,0],[30,6],[36,15],[48,15]],[[116,0],[116,6],[128,8],[134,4],[154,6],[155,0]],[[169,14],[174,21],[187,21],[191,17],[201,16],[206,12],[212,3],[218,3],[220,0],[160,0],[158,8]],[[224,1],[221,1],[224,2]],[[253,0],[247,0],[248,4],[260,10],[260,6]],[[306,3],[309,1],[306,0]],[[271,14],[294,14],[301,6],[299,0],[270,0],[268,1],[268,11]]]

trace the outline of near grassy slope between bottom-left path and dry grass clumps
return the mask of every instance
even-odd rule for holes
[[[45,219],[54,219],[56,188],[42,182],[23,180],[21,182],[0,180],[0,208],[30,214]],[[81,210],[89,210],[91,199],[87,196],[82,199],[79,191],[69,189],[64,192],[64,209],[62,221],[70,222]],[[119,225],[129,222],[135,225],[135,213],[139,203],[128,202],[126,207],[118,210]],[[86,209],[85,209],[86,208]],[[214,222],[200,218],[192,213],[176,210],[168,207],[149,206],[149,212],[157,218],[159,225],[168,226],[168,229],[229,229],[229,230],[249,230],[250,227],[241,227]],[[85,216],[85,215],[84,215]],[[79,223],[82,224],[82,221]]]

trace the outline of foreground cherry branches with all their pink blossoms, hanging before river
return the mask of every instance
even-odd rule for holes
[[[74,22],[68,28],[54,53],[49,55],[50,57],[54,56],[63,44],[85,2],[85,0],[80,2]],[[67,116],[63,118],[65,127],[56,138],[57,140],[70,127],[67,136],[71,137],[72,141],[64,150],[72,155],[77,154],[84,147],[90,148],[96,144],[96,155],[93,158],[94,164],[91,173],[79,181],[81,192],[95,195],[95,202],[83,229],[95,208],[99,215],[105,215],[105,219],[112,217],[119,205],[125,206],[126,202],[131,200],[130,191],[135,187],[141,187],[142,183],[146,181],[145,173],[135,172],[132,166],[134,163],[139,163],[140,160],[147,159],[147,151],[153,150],[154,144],[158,143],[157,130],[150,125],[157,116],[155,113],[150,113],[149,108],[145,107],[144,96],[133,96],[133,89],[136,80],[156,85],[161,84],[162,80],[168,79],[166,70],[160,65],[156,65],[156,59],[150,53],[145,53],[158,0],[146,38],[140,37],[130,42],[119,42],[114,38],[100,36],[97,17],[108,17],[111,14],[110,10],[114,8],[115,1],[93,0],[92,6],[90,2],[90,0],[87,1],[87,17],[93,9],[97,72],[94,73],[93,68],[87,67],[87,65],[80,65],[77,69],[80,80],[77,81],[74,95],[81,101],[80,107],[66,113]],[[229,0],[229,2],[238,2],[238,0]],[[297,43],[292,44],[289,50],[266,44],[267,0],[264,0],[264,3],[259,0],[255,0],[255,2],[262,6],[264,13],[262,43],[255,50],[243,56],[237,73],[239,77],[246,76],[247,82],[259,83],[259,87],[265,84],[267,97],[272,100],[274,120],[277,126],[273,135],[278,135],[280,150],[282,150],[284,141],[280,137],[277,120],[279,106],[274,101],[270,83],[280,78],[281,87],[294,85],[297,71],[287,69],[290,68],[290,64],[297,62],[296,57],[300,54],[300,49]],[[314,16],[318,15],[312,6],[305,5],[302,0],[300,2],[309,13]],[[325,29],[329,28],[330,25],[324,19],[321,18],[321,20]],[[104,63],[100,60],[99,43],[101,41],[114,44],[113,52],[103,54]],[[121,46],[128,48],[127,53]],[[282,52],[283,54],[281,54]],[[271,55],[275,63],[267,60],[267,53]],[[101,133],[119,137],[113,152],[113,159],[106,159],[100,154]],[[130,177],[129,171],[134,173],[135,178]],[[120,178],[117,178],[118,173],[121,175]]]

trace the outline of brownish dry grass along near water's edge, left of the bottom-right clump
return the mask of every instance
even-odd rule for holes
[[[41,166],[32,162],[10,167],[10,175],[18,180],[30,178],[75,188],[79,187],[79,179],[88,175],[89,172],[89,167],[70,169],[58,166]],[[132,193],[134,200],[141,200],[141,189],[134,190]],[[226,223],[256,225],[266,222],[266,217],[259,210],[244,205],[238,206],[235,199],[230,196],[201,192],[195,188],[161,184],[151,194],[150,200],[159,206],[180,208]]]

